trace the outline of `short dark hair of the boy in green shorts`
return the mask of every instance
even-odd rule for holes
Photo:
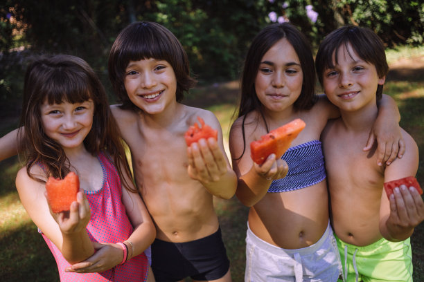
[[[347,47],[348,44],[351,44],[353,50],[361,59],[376,66],[379,78],[387,75],[389,66],[387,64],[385,46],[382,44],[380,37],[369,28],[343,26],[330,32],[319,46],[315,66],[321,85],[323,85],[324,71],[328,68],[334,68],[333,54],[335,54],[335,63],[337,64],[336,51],[342,46]],[[382,88],[382,85],[377,87],[377,100],[382,97]]]

